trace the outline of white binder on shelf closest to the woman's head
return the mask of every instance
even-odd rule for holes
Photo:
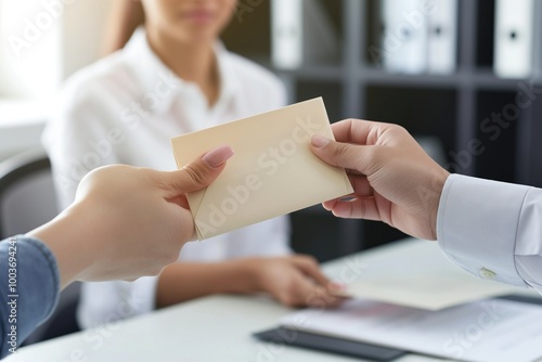
[[[271,53],[276,68],[297,69],[337,59],[339,37],[320,1],[271,1]]]

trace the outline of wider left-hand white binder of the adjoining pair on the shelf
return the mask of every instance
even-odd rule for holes
[[[427,69],[427,16],[421,0],[383,0],[382,47],[384,68],[391,73],[420,74]]]

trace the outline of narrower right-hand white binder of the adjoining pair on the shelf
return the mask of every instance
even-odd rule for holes
[[[435,2],[428,17],[428,72],[451,74],[456,68],[457,0]]]

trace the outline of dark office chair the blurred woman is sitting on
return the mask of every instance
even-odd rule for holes
[[[57,215],[51,163],[42,150],[30,150],[0,163],[0,240],[24,234]],[[61,295],[52,318],[25,345],[78,331],[75,310],[79,284]]]

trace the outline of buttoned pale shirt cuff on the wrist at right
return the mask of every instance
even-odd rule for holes
[[[447,257],[475,275],[528,286],[516,269],[515,247],[529,189],[451,174],[437,216],[437,238]]]

